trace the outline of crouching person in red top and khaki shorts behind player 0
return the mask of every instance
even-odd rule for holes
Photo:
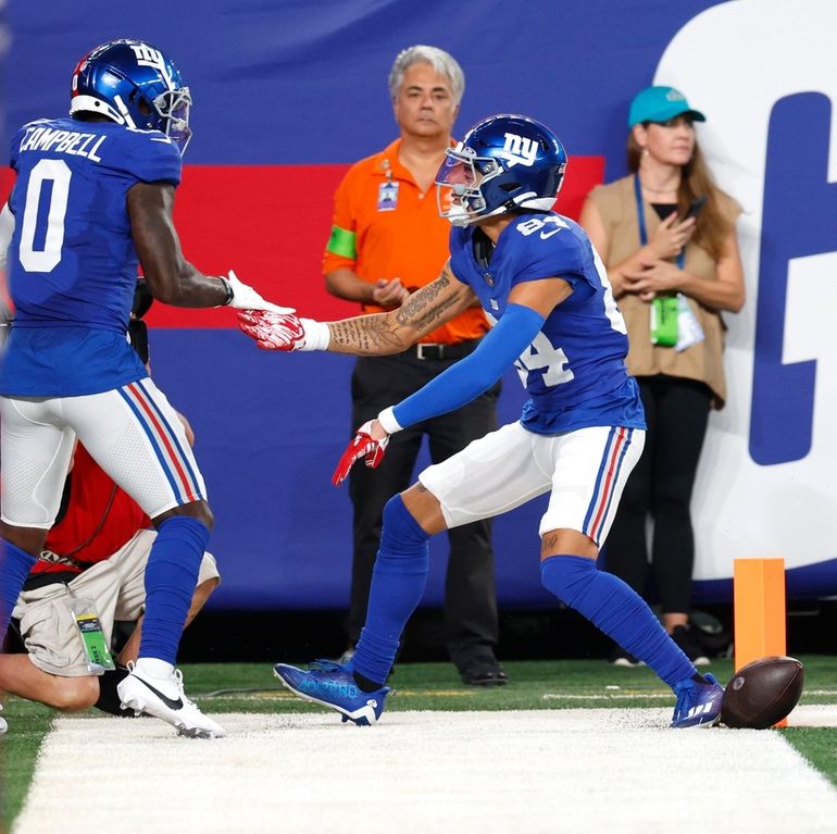
[[[59,518],[14,608],[26,652],[0,655],[0,690],[59,710],[96,706],[133,714],[121,709],[116,685],[137,659],[146,563],[157,535],[139,506],[78,445]],[[215,559],[204,553],[186,625],[218,582]],[[117,621],[136,626],[112,657]]]

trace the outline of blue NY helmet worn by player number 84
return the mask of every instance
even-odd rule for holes
[[[546,125],[501,114],[474,125],[446,152],[436,175],[439,214],[454,226],[519,209],[549,211],[566,171],[566,151]]]

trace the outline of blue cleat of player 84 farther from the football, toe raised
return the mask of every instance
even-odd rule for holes
[[[353,721],[359,726],[368,726],[380,718],[389,693],[388,686],[363,692],[354,683],[351,669],[330,660],[315,660],[309,664],[308,672],[276,663],[273,673],[303,700],[336,709],[343,722]]]

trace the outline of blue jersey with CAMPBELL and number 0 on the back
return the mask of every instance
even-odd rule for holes
[[[14,135],[11,166],[15,315],[0,393],[97,394],[142,378],[126,338],[138,266],[127,192],[177,185],[177,147],[158,130],[40,120]]]

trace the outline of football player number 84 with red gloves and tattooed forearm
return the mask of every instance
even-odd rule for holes
[[[551,211],[566,153],[545,125],[498,115],[448,151],[439,210],[453,224],[441,275],[398,309],[322,323],[239,313],[262,348],[377,354],[404,350],[472,303],[497,323],[480,346],[376,420],[362,425],[335,471],[377,466],[391,434],[459,408],[515,365],[530,399],[521,420],[429,466],[390,499],[366,625],[346,665],[275,667],[293,693],[376,721],[402,630],[422,599],[429,536],[550,494],[540,522],[544,586],[625,649],[677,695],[672,726],[711,725],[723,688],[700,675],[646,602],[596,559],[645,440],[645,415],[625,369],[627,336],[602,262],[582,229]]]

